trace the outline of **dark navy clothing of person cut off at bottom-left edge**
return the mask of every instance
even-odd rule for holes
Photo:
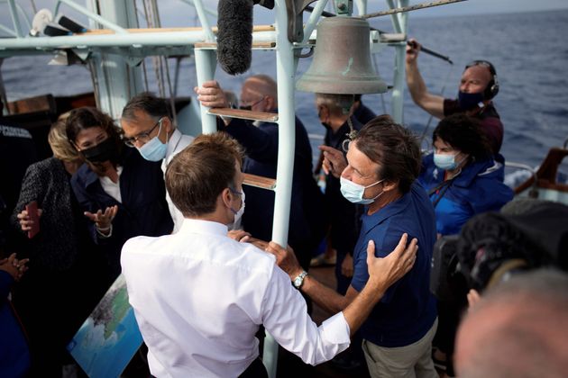
[[[8,302],[14,278],[0,270],[0,376],[23,377],[30,368],[30,350]]]

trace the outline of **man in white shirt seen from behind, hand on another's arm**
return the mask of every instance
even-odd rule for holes
[[[197,137],[166,171],[169,195],[186,218],[179,232],[124,244],[128,295],[157,377],[236,377],[259,365],[266,376],[254,337],[261,325],[304,362],[329,360],[414,264],[417,241],[405,249],[406,234],[389,257],[369,253],[362,293],[318,328],[297,290],[305,275],[294,288],[272,255],[227,237],[243,205],[242,157],[224,133]]]

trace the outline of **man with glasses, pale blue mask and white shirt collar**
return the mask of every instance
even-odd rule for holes
[[[124,130],[124,143],[137,148],[146,160],[161,160],[164,175],[169,161],[193,140],[173,124],[169,104],[149,93],[138,94],[126,103],[120,123]],[[167,192],[166,201],[175,233],[181,227],[183,215],[171,202]]]

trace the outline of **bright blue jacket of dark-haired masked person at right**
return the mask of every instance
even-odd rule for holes
[[[434,154],[423,157],[418,180],[435,204],[439,234],[458,234],[473,215],[499,211],[513,199],[513,191],[502,183],[504,166],[492,158],[468,163],[445,185],[444,175],[445,171],[434,164]]]

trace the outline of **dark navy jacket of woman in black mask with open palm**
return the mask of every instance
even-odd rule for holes
[[[111,275],[114,277],[120,274],[120,251],[127,239],[166,235],[173,229],[161,162],[147,161],[136,149],[124,148],[122,166],[122,203],[105,193],[98,176],[87,164],[80,166],[71,177],[71,187],[82,211],[105,211],[109,206],[118,205],[110,238],[99,238],[95,223],[88,222],[92,238],[96,243],[104,245]]]

